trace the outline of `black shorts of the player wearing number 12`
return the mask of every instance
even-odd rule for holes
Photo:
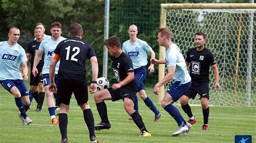
[[[59,80],[57,85],[58,102],[70,104],[72,93],[75,95],[77,105],[83,105],[88,101],[88,89],[86,81]]]

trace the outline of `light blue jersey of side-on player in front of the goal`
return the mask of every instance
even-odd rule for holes
[[[179,47],[176,44],[170,45],[165,51],[165,60],[167,67],[176,67],[173,76],[174,82],[180,81],[180,84],[185,84],[191,81],[190,74],[188,74],[186,63]]]

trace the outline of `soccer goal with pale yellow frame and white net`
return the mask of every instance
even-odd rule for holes
[[[256,4],[197,3],[161,4],[160,27],[173,33],[172,41],[186,57],[195,47],[194,33],[207,35],[206,47],[213,53],[219,68],[221,90],[214,89],[210,68],[210,99],[214,106],[256,106]],[[159,47],[159,60],[165,59]],[[159,65],[158,80],[164,78],[165,65]],[[161,87],[160,103],[172,81]],[[197,96],[190,104],[200,105]]]

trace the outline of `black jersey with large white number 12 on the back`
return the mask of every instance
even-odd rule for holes
[[[92,46],[78,37],[61,41],[54,53],[60,55],[58,80],[86,80],[85,61],[96,56]]]

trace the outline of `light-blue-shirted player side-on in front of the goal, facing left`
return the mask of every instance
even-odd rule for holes
[[[162,107],[176,120],[178,124],[178,130],[172,135],[176,136],[180,133],[186,133],[192,127],[191,124],[186,123],[184,118],[181,116],[179,110],[172,104],[184,94],[191,85],[191,77],[186,69],[186,63],[183,55],[180,52],[179,47],[174,44],[171,40],[172,32],[168,28],[160,28],[157,35],[157,42],[160,46],[164,46],[165,60],[151,59],[151,63],[155,64],[166,64],[168,73],[165,77],[160,80],[153,89],[154,94],[159,94],[159,88],[170,80],[174,80],[174,83],[167,90],[163,101],[161,102]]]

